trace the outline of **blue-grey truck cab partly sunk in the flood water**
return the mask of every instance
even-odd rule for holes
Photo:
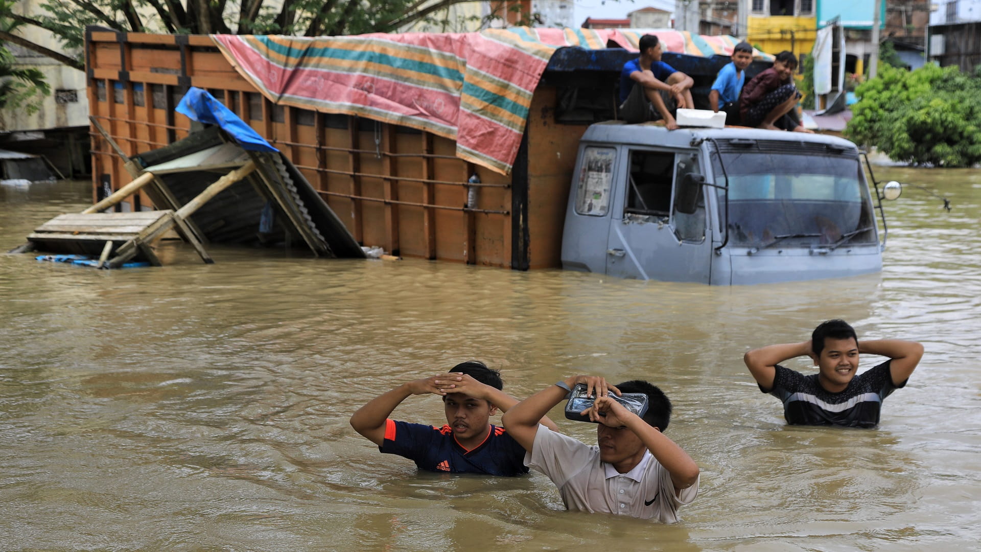
[[[765,284],[877,272],[882,247],[849,140],[607,122],[580,142],[562,267]]]

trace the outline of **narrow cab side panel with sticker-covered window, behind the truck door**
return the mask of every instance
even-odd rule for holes
[[[602,274],[618,174],[617,148],[586,146],[576,168],[562,232],[562,267]]]

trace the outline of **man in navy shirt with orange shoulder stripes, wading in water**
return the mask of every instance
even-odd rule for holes
[[[525,449],[490,423],[499,409],[507,412],[518,400],[501,391],[500,372],[484,362],[468,360],[451,373],[408,381],[384,393],[351,415],[351,427],[378,445],[379,451],[416,463],[420,469],[451,473],[520,475],[527,473]],[[388,419],[411,395],[442,397],[446,425],[437,427]],[[542,424],[558,430],[544,414]]]

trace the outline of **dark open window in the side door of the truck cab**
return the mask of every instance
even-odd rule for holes
[[[662,151],[630,152],[625,214],[670,216],[674,157]]]

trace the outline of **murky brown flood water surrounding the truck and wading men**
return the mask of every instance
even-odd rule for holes
[[[0,254],[2,550],[946,550],[981,540],[981,171],[876,168],[881,274],[712,288],[301,250],[164,247],[116,271]],[[90,203],[0,187],[0,248]],[[790,427],[742,361],[841,317],[926,347],[875,430]],[[680,524],[567,513],[541,473],[417,472],[358,407],[466,359],[527,396],[660,385],[701,467]],[[861,369],[878,359],[863,358]],[[809,371],[804,359],[792,367]],[[397,419],[443,422],[439,398]],[[594,442],[594,425],[560,428]],[[499,422],[499,421],[498,421]]]

